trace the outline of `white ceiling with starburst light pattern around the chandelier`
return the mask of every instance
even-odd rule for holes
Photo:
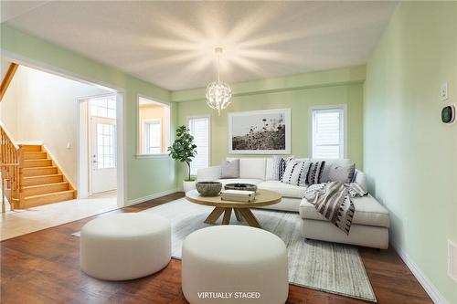
[[[175,90],[216,78],[218,46],[228,83],[364,64],[396,5],[44,1],[17,7],[2,1],[2,20]]]

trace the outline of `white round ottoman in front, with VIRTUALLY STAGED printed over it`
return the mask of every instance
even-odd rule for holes
[[[284,303],[287,250],[278,236],[242,225],[218,225],[186,237],[182,285],[196,303]]]

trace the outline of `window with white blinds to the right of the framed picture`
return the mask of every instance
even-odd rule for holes
[[[312,157],[345,157],[345,109],[312,110]]]

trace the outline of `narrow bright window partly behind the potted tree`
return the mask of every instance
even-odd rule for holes
[[[195,176],[198,169],[209,166],[209,117],[189,118],[188,128],[197,145],[197,155],[190,162],[190,174]]]

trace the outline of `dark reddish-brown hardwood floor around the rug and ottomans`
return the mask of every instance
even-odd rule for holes
[[[171,194],[102,215],[138,212],[182,197]],[[181,292],[181,262],[146,278],[101,281],[80,271],[80,240],[70,236],[97,217],[6,240],[1,247],[2,303],[186,303]],[[360,248],[360,255],[379,304],[432,303],[419,282],[393,250]],[[288,303],[368,303],[309,288],[290,286]]]

